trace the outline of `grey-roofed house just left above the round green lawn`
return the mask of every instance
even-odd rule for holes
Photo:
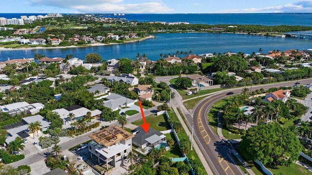
[[[119,107],[125,107],[135,104],[134,100],[131,100],[116,93],[111,93],[109,96],[106,97],[106,99],[107,100],[103,102],[103,105],[111,108],[112,111],[118,110]]]

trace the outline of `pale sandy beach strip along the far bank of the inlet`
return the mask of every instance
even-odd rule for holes
[[[14,50],[37,50],[37,49],[66,49],[66,48],[80,48],[80,47],[92,47],[92,46],[106,46],[106,45],[113,45],[113,44],[125,44],[125,43],[133,43],[133,42],[138,42],[138,41],[143,41],[146,39],[151,39],[154,38],[155,36],[147,36],[144,38],[140,38],[138,40],[132,40],[132,41],[125,41],[123,43],[109,43],[109,44],[104,44],[104,43],[92,43],[87,46],[57,46],[57,47],[34,47],[34,48],[4,48],[0,47],[0,51],[14,51]]]

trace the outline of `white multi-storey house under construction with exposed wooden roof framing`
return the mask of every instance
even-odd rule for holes
[[[132,151],[134,135],[117,125],[99,130],[89,135],[91,157],[98,158],[98,164],[103,164],[108,170],[111,167],[120,167],[123,160]]]

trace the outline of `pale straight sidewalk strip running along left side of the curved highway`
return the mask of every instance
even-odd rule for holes
[[[178,113],[178,111],[177,111],[177,109],[176,109],[176,106],[173,106],[172,108],[174,109],[174,111],[175,111],[175,113],[176,113],[176,116],[177,116],[177,118],[179,119],[180,123],[182,124],[183,129],[184,129],[184,131],[186,132],[186,134],[187,134],[188,136],[191,136],[191,132],[189,131],[189,129],[188,129],[188,127],[186,126],[186,124],[184,123],[182,117],[181,117],[180,114]],[[203,156],[203,154],[201,153],[201,151],[200,151],[200,149],[199,149],[199,147],[198,147],[198,145],[197,145],[197,143],[196,143],[195,140],[193,141],[193,147],[194,147],[194,149],[195,149],[195,151],[196,151],[196,153],[197,153],[197,155],[198,155],[198,157],[199,157],[201,163],[203,164],[203,166],[204,166],[204,168],[205,168],[207,174],[208,174],[208,175],[213,175],[214,173],[213,173],[212,170],[210,169],[210,166],[208,165],[208,163],[207,163],[205,157]]]

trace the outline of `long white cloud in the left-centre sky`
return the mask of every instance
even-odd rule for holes
[[[123,0],[31,0],[32,5],[53,6],[73,9],[79,13],[169,13],[173,9],[165,4],[143,2],[137,4],[124,4]]]

